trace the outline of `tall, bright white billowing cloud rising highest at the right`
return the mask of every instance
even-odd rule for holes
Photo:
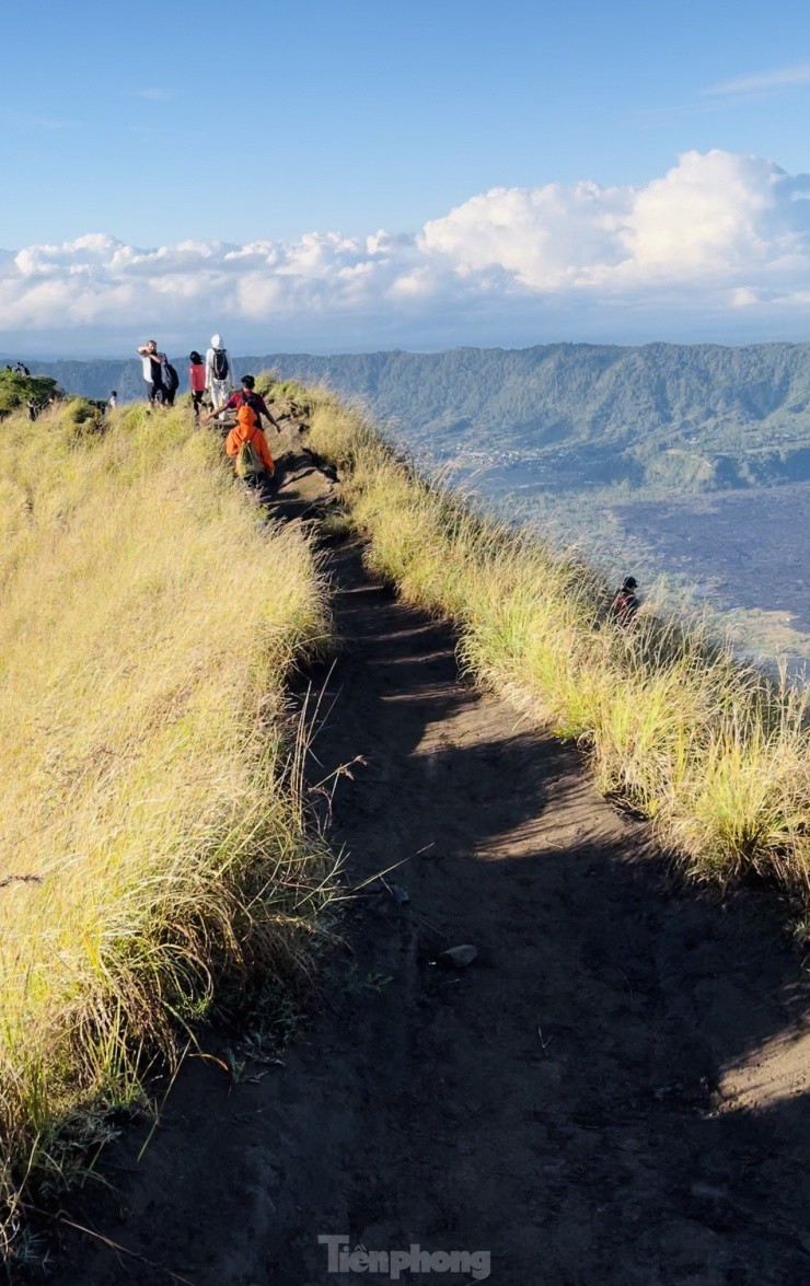
[[[728,152],[687,152],[639,188],[494,188],[427,224],[426,256],[456,273],[505,269],[527,289],[633,289],[810,267],[810,176]],[[747,280],[742,283],[750,284]]]

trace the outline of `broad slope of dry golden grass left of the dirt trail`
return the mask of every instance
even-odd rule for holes
[[[0,433],[0,1186],[138,1093],[219,972],[307,967],[328,898],[284,682],[328,633],[188,413],[58,406]]]

